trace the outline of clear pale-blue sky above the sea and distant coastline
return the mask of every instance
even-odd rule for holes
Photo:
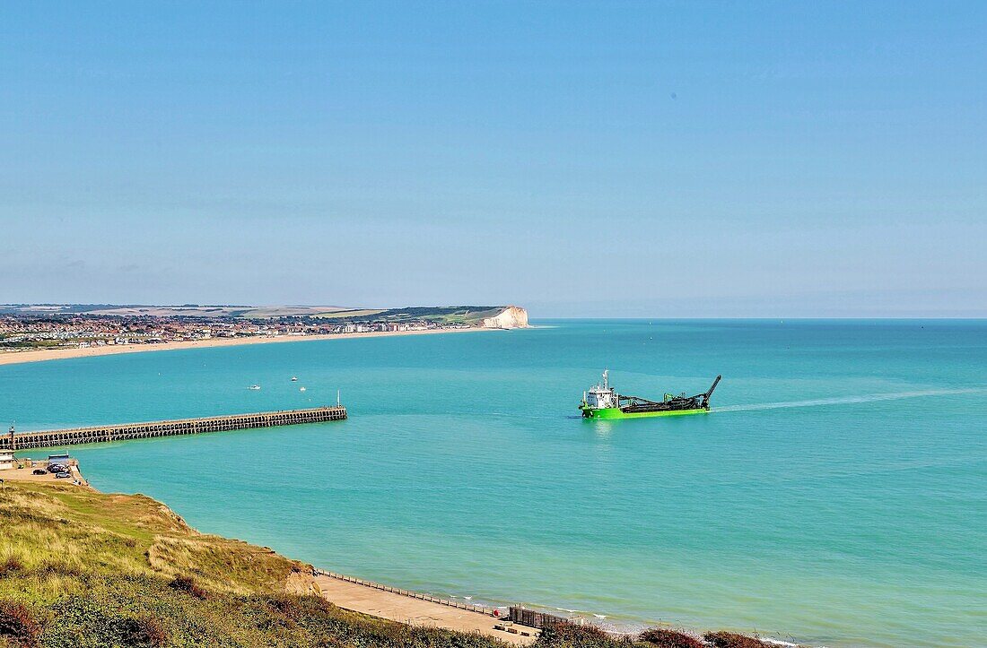
[[[0,302],[987,316],[987,3],[0,5]]]

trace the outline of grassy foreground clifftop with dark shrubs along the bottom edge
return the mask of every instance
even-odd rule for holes
[[[535,648],[767,645],[707,637],[653,630],[615,639],[564,626]],[[149,497],[8,481],[0,484],[0,648],[15,646],[507,648],[337,608],[314,595],[310,565],[199,534]]]

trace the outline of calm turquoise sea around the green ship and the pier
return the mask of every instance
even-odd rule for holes
[[[342,423],[72,453],[203,532],[402,587],[828,646],[987,645],[987,323],[540,324],[0,367],[0,417],[341,389]],[[708,415],[581,420],[605,367],[641,396],[723,382]]]

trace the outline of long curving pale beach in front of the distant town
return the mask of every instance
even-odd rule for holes
[[[69,358],[91,358],[98,355],[117,353],[145,353],[150,351],[175,351],[177,349],[200,349],[211,346],[240,346],[242,344],[275,344],[279,342],[308,342],[318,339],[349,339],[356,337],[390,337],[392,335],[431,335],[437,333],[465,333],[478,330],[501,330],[500,328],[434,328],[429,330],[373,331],[367,333],[326,333],[324,335],[276,335],[270,337],[217,337],[213,339],[190,340],[188,342],[165,342],[163,344],[110,344],[80,349],[32,349],[30,351],[0,352],[0,365],[16,365],[22,362],[42,362],[44,360],[67,360]]]

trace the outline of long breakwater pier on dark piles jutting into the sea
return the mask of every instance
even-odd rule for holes
[[[313,407],[310,409],[286,409],[255,412],[252,414],[231,414],[228,416],[151,421],[148,423],[97,425],[66,430],[18,433],[11,428],[10,433],[0,436],[0,450],[56,448],[84,443],[107,443],[111,441],[127,441],[130,439],[173,437],[183,434],[246,430],[258,427],[322,423],[324,421],[341,421],[344,418],[346,418],[346,408],[343,405],[333,405],[330,407]]]

